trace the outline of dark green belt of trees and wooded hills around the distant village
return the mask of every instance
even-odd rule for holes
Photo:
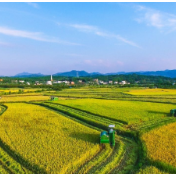
[[[72,87],[80,87],[83,86],[85,83],[89,81],[93,81],[93,79],[99,79],[104,82],[113,81],[113,82],[121,82],[127,81],[130,82],[130,85],[124,85],[125,87],[133,87],[133,86],[145,86],[145,87],[158,87],[158,88],[176,88],[176,85],[173,85],[176,82],[176,78],[168,78],[162,76],[145,76],[145,75],[138,75],[138,74],[129,74],[129,75],[96,75],[96,76],[88,76],[88,77],[65,77],[65,76],[54,76],[53,79],[56,81],[74,81],[76,84]],[[0,82],[0,87],[3,88],[47,88],[47,89],[54,89],[54,90],[61,90],[64,88],[70,87],[69,85],[64,84],[56,84],[56,85],[37,85],[35,86],[35,82],[39,81],[40,83],[44,83],[50,80],[50,76],[44,77],[30,77],[30,78],[12,78],[12,77],[4,77],[3,82]],[[19,84],[14,83],[14,80],[24,80],[25,82],[30,82],[31,85],[26,84]],[[79,83],[79,80],[82,80],[83,83]],[[117,85],[119,86],[119,85]]]

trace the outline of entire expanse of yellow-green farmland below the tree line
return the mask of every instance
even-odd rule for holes
[[[37,90],[0,89],[0,173],[176,173],[176,90]],[[115,148],[99,145],[109,124]]]

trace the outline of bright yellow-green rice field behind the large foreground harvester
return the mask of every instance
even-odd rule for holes
[[[168,118],[170,109],[175,108],[170,104],[98,99],[60,100],[54,103],[122,120],[129,124]]]

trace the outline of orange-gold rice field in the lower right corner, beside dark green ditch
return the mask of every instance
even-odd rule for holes
[[[154,129],[142,139],[150,159],[176,167],[176,123]]]

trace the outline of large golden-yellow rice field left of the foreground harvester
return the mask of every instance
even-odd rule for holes
[[[72,173],[100,151],[96,130],[37,105],[5,105],[0,139],[39,173]]]

